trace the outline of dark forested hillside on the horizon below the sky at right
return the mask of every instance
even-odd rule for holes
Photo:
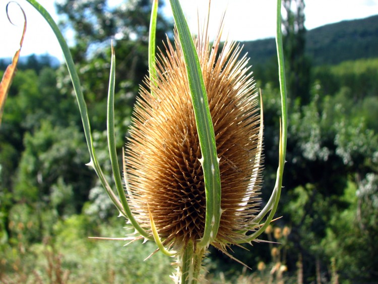
[[[378,57],[378,15],[325,25],[306,33],[306,55],[313,65]],[[244,51],[255,66],[265,65],[276,55],[273,38],[243,41]]]

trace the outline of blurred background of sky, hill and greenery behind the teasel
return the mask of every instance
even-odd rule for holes
[[[197,22],[193,7],[203,15],[208,7],[194,2],[182,1],[191,27]],[[248,3],[256,6],[246,9],[242,0],[232,5],[213,1],[211,29],[214,35],[228,9],[225,33],[248,52],[263,93],[263,206],[278,165],[275,4]],[[211,248],[204,260],[211,283],[378,279],[378,2],[317,3],[283,0],[289,128],[276,214],[282,217],[260,237],[272,243],[231,248],[251,269]],[[143,261],[155,250],[153,244],[123,248],[123,241],[88,239],[123,237],[130,230],[85,165],[89,153],[81,119],[55,39],[45,23],[33,28],[40,19],[28,4],[20,4],[31,31],[0,126],[0,282],[170,283],[170,258],[157,253]],[[5,5],[0,8],[1,76],[19,48],[23,25],[17,6],[12,6],[10,16],[18,27],[8,22]],[[139,85],[147,75],[150,7],[148,0],[46,2],[72,48],[95,148],[108,177],[110,40],[116,52],[115,127],[121,155]],[[173,20],[169,3],[161,1],[159,11],[157,44],[162,48],[162,40],[172,39]]]

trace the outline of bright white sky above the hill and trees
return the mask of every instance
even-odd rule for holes
[[[27,30],[21,56],[46,54],[63,61],[62,53],[51,28],[25,0],[16,0],[27,17]],[[57,21],[54,1],[38,1]],[[121,0],[108,0],[117,5]],[[11,3],[9,14],[15,25],[9,23],[6,14],[7,0],[0,0],[0,58],[13,57],[19,48],[23,29],[23,16],[19,7]],[[197,31],[197,14],[203,21],[208,11],[206,0],[180,0],[182,9],[193,32]],[[307,30],[343,20],[361,19],[378,15],[378,0],[305,0],[305,27]],[[210,14],[210,37],[218,30],[220,19],[225,15],[224,35],[230,40],[255,40],[275,36],[276,1],[274,0],[212,0]],[[197,13],[198,12],[198,13]],[[168,5],[160,11],[168,18],[172,12]],[[66,34],[70,44],[72,35]],[[225,37],[224,37],[225,38]]]

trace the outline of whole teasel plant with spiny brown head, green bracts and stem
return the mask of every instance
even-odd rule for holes
[[[91,157],[88,165],[94,168],[120,215],[127,218],[136,229],[135,235],[122,239],[155,241],[158,250],[176,258],[177,272],[173,278],[179,283],[196,283],[198,281],[201,262],[210,245],[228,254],[227,248],[230,245],[251,243],[256,240],[267,228],[276,212],[286,155],[287,109],[282,55],[281,1],[277,1],[277,50],[282,102],[279,165],[273,193],[267,205],[260,212],[256,210],[258,202],[256,196],[261,181],[263,118],[262,115],[259,118],[257,114],[257,93],[252,95],[255,92],[254,81],[248,70],[245,69],[246,60],[244,58],[237,61],[239,49],[234,48],[234,44],[230,44],[228,49],[224,48],[226,51],[222,53],[220,58],[217,58],[216,52],[219,47],[220,36],[211,52],[207,48],[206,28],[204,35],[199,35],[194,42],[178,0],[171,0],[170,4],[177,28],[177,50],[175,51],[168,43],[168,51],[170,52],[168,59],[160,56],[159,62],[156,63],[154,46],[158,2],[156,0],[153,2],[149,48],[150,80],[147,84],[150,90],[141,91],[143,100],[138,101],[136,106],[137,119],[132,130],[134,138],[128,144],[130,158],[127,157],[128,161],[123,165],[127,194],[124,193],[122,186],[115,151],[115,55],[114,49],[112,49],[107,134],[117,197],[103,175],[93,147],[87,107],[67,43],[44,8],[34,0],[28,0],[28,2],[49,23],[64,52],[79,103]],[[174,66],[175,64],[177,66]],[[206,66],[208,66],[208,69]],[[166,71],[168,72],[165,73]],[[167,84],[165,86],[167,89],[162,91],[164,82],[169,77],[168,73],[176,76],[172,81],[175,84]],[[166,74],[168,74],[168,77],[165,77]],[[212,93],[210,89],[217,84],[212,80],[219,80],[219,86],[224,88]],[[208,85],[205,82],[208,82]],[[183,95],[180,96],[180,94]],[[176,124],[173,120],[177,119],[172,117],[173,112],[164,112],[164,110],[171,111],[178,107],[186,107],[186,110],[189,111],[181,113],[182,121],[189,118],[187,122],[181,125]],[[215,112],[217,112],[218,117],[214,116]],[[158,133],[154,126],[163,124],[164,118],[169,121],[168,116],[171,116],[170,121],[174,124],[167,125],[165,128],[171,129],[172,132],[164,133],[164,129],[161,129],[162,132]],[[159,123],[154,125],[153,120],[159,120]],[[148,132],[147,126],[149,124],[153,126],[152,133],[155,136],[148,135],[151,134]],[[216,130],[219,125],[223,127]],[[176,131],[177,128],[179,131]],[[219,137],[226,132],[226,130],[223,131],[224,128],[229,133],[222,140]],[[243,135],[245,133],[247,135]],[[164,137],[164,134],[167,134],[167,136]],[[183,134],[183,136],[179,137],[180,134]],[[233,134],[239,135],[235,138],[236,142],[232,142]],[[246,140],[243,140],[243,136],[246,136],[246,138],[244,137]],[[237,140],[238,138],[240,140]],[[152,139],[151,143],[143,144],[148,139]],[[227,143],[230,144],[227,145]],[[156,148],[152,147],[154,144],[157,145]],[[156,153],[159,147],[163,150],[163,154]],[[184,149],[185,147],[186,149]],[[230,156],[225,155],[224,153],[232,147],[236,150],[229,151]],[[181,157],[174,153],[176,149],[180,152]],[[156,158],[162,160],[142,159],[141,157],[145,155],[144,151],[148,152],[149,150],[149,154],[156,155]],[[170,156],[167,156],[169,152]],[[246,154],[242,154],[243,152]],[[165,174],[160,175],[160,180],[159,177],[154,176],[161,173],[159,173],[158,167],[152,167],[153,163],[157,163],[161,167],[165,165],[170,167]],[[186,169],[183,170],[185,166]],[[145,172],[143,172],[144,167],[147,167]],[[130,171],[130,176],[128,171]],[[171,171],[173,179],[161,179],[169,171]],[[243,173],[243,175],[240,175],[240,173]],[[178,177],[179,175],[181,176]],[[235,184],[235,179],[240,185]],[[224,186],[227,185],[227,182],[229,183],[228,191],[227,186]],[[163,204],[164,199],[171,197],[165,189],[169,188],[172,183],[176,183],[176,185],[173,185],[174,187],[180,187],[186,183],[188,190],[191,191],[191,194],[185,193],[186,196],[179,196],[179,199],[184,201],[182,202],[184,207],[180,207],[180,210],[186,210],[187,213],[185,214],[180,215],[182,212],[177,214],[178,209],[173,206],[176,205],[174,204],[176,201],[170,200],[170,203],[167,202],[168,206]],[[196,189],[192,186],[194,184],[196,184]],[[224,186],[223,188],[221,188],[221,184]],[[163,190],[160,189],[161,187],[163,187]],[[236,189],[234,194],[232,189]],[[176,188],[176,192],[171,192],[171,194],[177,195],[177,192],[185,192],[185,190]],[[160,204],[158,203],[159,198],[161,199]],[[169,211],[169,209],[172,210]],[[172,222],[169,223],[169,219],[167,223],[167,219],[164,219],[164,216],[167,217],[170,214],[176,217],[181,216],[182,219],[179,220],[177,225]]]

